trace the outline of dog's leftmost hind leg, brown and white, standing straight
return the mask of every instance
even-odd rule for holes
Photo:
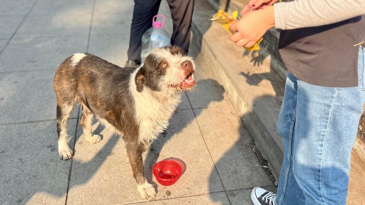
[[[68,146],[67,126],[73,107],[73,102],[63,104],[57,102],[58,153],[59,158],[64,160],[72,158],[72,150]]]

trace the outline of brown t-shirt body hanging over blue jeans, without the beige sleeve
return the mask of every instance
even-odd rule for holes
[[[364,40],[365,15],[325,26],[282,30],[279,51],[288,71],[302,81],[354,87],[359,49],[354,45]]]

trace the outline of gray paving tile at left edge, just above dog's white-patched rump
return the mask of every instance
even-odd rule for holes
[[[87,49],[87,38],[12,39],[0,55],[0,72],[24,70],[55,70],[66,58]]]

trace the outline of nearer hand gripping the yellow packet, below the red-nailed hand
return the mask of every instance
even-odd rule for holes
[[[255,12],[248,12],[236,23],[230,26],[231,34],[229,38],[238,47],[254,46],[269,28],[275,26],[274,7],[260,9]]]

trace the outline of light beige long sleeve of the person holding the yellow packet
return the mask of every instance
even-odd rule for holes
[[[296,0],[274,4],[275,28],[322,26],[365,14],[365,0]]]

